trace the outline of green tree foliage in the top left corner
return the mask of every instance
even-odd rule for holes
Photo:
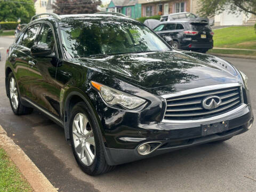
[[[28,23],[35,15],[33,0],[0,0],[0,21]]]

